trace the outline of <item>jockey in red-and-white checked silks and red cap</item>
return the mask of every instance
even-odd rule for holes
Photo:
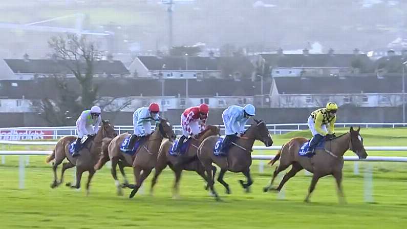
[[[200,132],[205,130],[206,119],[208,118],[209,107],[205,103],[202,103],[198,107],[190,107],[185,109],[181,114],[181,127],[182,136],[178,140],[177,149],[174,153],[179,153],[184,140],[191,135],[196,137]],[[199,120],[201,120],[201,126],[199,126]]]

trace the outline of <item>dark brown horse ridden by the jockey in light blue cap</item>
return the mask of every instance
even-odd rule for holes
[[[255,123],[250,126],[249,129],[235,141],[230,147],[226,157],[215,156],[213,154],[213,147],[218,141],[218,137],[210,136],[206,138],[198,148],[198,158],[205,167],[207,174],[208,185],[212,194],[217,200],[220,200],[218,194],[213,189],[212,162],[216,163],[221,172],[219,173],[218,181],[226,188],[226,193],[230,194],[229,184],[223,180],[223,176],[226,171],[234,173],[243,173],[247,177],[247,182],[239,180],[240,184],[246,191],[249,191],[249,186],[253,183],[250,177],[250,165],[251,165],[251,149],[254,144],[254,140],[262,141],[267,147],[273,144],[273,140],[270,137],[266,123],[264,121],[258,121],[254,119]]]

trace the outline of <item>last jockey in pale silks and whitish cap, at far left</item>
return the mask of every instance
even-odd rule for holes
[[[101,110],[98,106],[93,106],[91,110],[82,111],[79,118],[76,120],[76,130],[78,132],[78,138],[75,142],[75,151],[72,157],[79,156],[80,144],[84,135],[95,135],[99,131],[99,124]]]

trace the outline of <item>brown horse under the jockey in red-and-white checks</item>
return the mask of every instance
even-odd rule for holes
[[[169,154],[169,149],[173,146],[171,142],[165,140],[158,152],[158,159],[156,164],[156,172],[151,183],[150,193],[153,194],[154,185],[157,183],[157,178],[160,173],[169,165],[175,173],[175,182],[174,182],[174,197],[178,197],[178,186],[181,179],[182,170],[186,171],[195,171],[202,178],[206,180],[205,169],[203,168],[201,162],[197,158],[197,150],[201,142],[213,135],[219,135],[220,129],[217,126],[206,126],[205,130],[202,131],[197,138],[192,138],[189,143],[189,148],[187,152],[183,155],[173,156]],[[212,166],[213,176],[216,173],[216,167]],[[207,181],[207,180],[206,180]],[[206,186],[208,189],[208,186]]]

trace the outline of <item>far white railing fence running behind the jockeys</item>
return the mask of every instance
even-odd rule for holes
[[[223,125],[219,125],[221,131],[224,130]],[[363,128],[387,127],[397,128],[405,127],[407,123],[402,122],[344,122],[336,123],[336,127],[361,126]],[[247,126],[248,127],[248,126]],[[299,131],[308,129],[307,123],[283,123],[283,124],[267,124],[271,134],[283,134],[290,131]],[[116,131],[121,134],[125,132],[132,133],[133,126],[115,126]],[[177,135],[181,134],[181,126],[174,125],[174,131]],[[57,139],[66,135],[76,135],[76,127],[15,127],[15,128],[0,128],[1,140],[37,140],[37,139]]]

